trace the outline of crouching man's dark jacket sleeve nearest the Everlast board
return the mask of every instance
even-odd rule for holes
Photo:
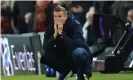
[[[44,33],[43,50],[50,51],[54,47],[54,36],[50,35],[49,29]]]

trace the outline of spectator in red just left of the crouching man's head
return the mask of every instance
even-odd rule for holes
[[[37,32],[45,32],[46,31],[46,13],[45,8],[48,6],[49,1],[36,1],[35,5],[35,27],[34,29]]]

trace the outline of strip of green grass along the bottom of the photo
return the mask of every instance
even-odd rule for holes
[[[2,80],[57,80],[57,78],[47,78],[45,75],[17,75],[17,76],[2,76]],[[68,80],[76,80],[75,78],[69,78]],[[99,72],[93,72],[93,76],[90,80],[133,80],[133,72],[118,73],[118,74],[101,74]]]

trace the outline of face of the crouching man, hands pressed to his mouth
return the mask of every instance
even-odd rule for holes
[[[54,12],[54,22],[57,24],[64,24],[67,20],[67,14],[65,14],[63,11],[60,12]]]

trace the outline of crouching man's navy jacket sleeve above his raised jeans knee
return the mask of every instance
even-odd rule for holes
[[[72,38],[69,38],[65,32],[62,33],[62,38],[69,49],[74,50],[77,47],[81,47],[84,44],[82,26],[75,26],[76,29],[72,34]]]

